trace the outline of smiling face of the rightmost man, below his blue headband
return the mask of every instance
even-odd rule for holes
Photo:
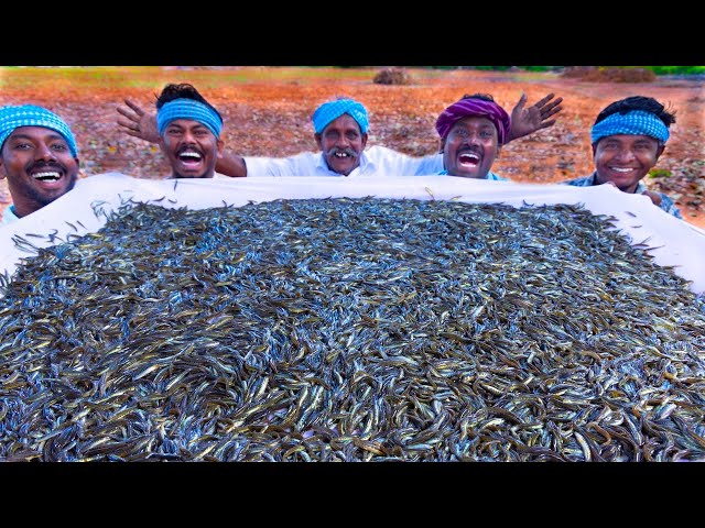
[[[663,148],[648,135],[616,134],[600,139],[593,145],[597,183],[611,182],[623,193],[634,193]]]

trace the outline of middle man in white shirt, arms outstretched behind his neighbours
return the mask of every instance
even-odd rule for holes
[[[512,122],[506,142],[551,127],[554,114],[562,110],[562,98],[552,100],[553,94],[524,108],[522,95],[512,111]],[[129,108],[118,107],[127,118],[118,124],[133,138],[155,142],[154,118],[130,100]],[[367,148],[369,117],[362,103],[339,98],[321,105],[312,117],[314,138],[319,152],[304,152],[289,157],[242,157],[223,153],[216,169],[227,176],[413,176],[437,174],[443,168],[443,156],[423,157],[375,145]]]

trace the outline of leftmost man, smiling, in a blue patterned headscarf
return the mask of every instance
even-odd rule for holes
[[[62,118],[35,105],[0,108],[0,178],[12,196],[3,224],[64,196],[78,174],[76,140]]]

